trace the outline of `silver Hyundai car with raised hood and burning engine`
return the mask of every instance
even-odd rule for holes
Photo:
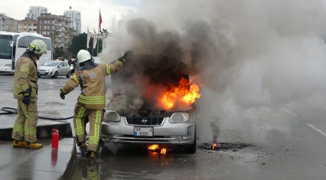
[[[101,126],[105,143],[182,145],[196,152],[199,86],[177,57],[133,55],[111,75],[112,98]]]

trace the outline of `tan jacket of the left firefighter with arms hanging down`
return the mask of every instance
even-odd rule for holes
[[[30,50],[26,50],[17,60],[14,75],[14,98],[22,99],[23,95],[19,92],[26,91],[31,88],[31,101],[37,99],[37,65],[38,57]]]

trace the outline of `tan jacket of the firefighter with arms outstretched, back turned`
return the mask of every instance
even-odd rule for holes
[[[61,89],[63,94],[72,91],[78,84],[81,93],[78,102],[88,109],[104,109],[105,107],[105,76],[117,72],[123,63],[119,60],[112,64],[90,63],[91,68],[78,68]]]

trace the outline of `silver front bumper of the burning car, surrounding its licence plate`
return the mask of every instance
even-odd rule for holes
[[[153,127],[153,136],[134,136],[134,127]],[[179,140],[177,140],[177,136]],[[180,140],[180,136],[182,140]],[[141,144],[192,144],[195,139],[195,122],[170,123],[165,117],[160,125],[128,124],[121,116],[119,122],[103,121],[101,138],[105,142],[141,143]]]

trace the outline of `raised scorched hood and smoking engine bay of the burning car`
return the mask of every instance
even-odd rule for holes
[[[107,108],[117,110],[121,115],[171,114],[173,111],[186,111],[189,104],[174,104],[174,108],[164,108],[162,94],[180,84],[188,82],[188,66],[175,56],[133,55],[125,65],[111,75],[112,98]]]

